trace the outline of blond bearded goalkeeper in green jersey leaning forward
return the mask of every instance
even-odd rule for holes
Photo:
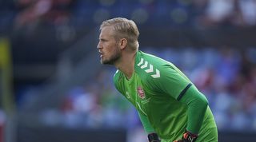
[[[206,97],[173,64],[138,50],[133,21],[113,18],[100,30],[101,63],[118,69],[114,85],[137,108],[150,142],[218,141]]]

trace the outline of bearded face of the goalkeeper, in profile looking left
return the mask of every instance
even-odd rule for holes
[[[118,41],[114,38],[112,26],[102,28],[97,48],[102,64],[113,65],[121,57],[121,50],[118,46]]]

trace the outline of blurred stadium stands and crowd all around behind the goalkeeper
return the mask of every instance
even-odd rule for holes
[[[0,0],[0,142],[147,141],[99,61],[115,17],[206,95],[220,142],[256,141],[256,0]]]

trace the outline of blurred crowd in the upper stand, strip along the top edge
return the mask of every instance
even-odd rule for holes
[[[0,31],[38,26],[94,26],[127,17],[145,26],[255,26],[255,0],[18,0],[0,1]]]

